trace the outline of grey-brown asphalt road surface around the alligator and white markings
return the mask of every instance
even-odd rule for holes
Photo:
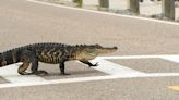
[[[111,55],[178,54],[179,26],[26,0],[0,0],[0,51],[34,42],[100,43],[117,46]],[[115,59],[110,62],[145,73],[177,73],[179,64],[164,59]],[[67,63],[70,76],[59,76],[58,65],[40,64],[51,73],[45,79],[108,75],[76,62]],[[51,66],[51,67],[50,67]],[[84,66],[84,67],[83,67]],[[3,77],[0,83],[8,83]],[[179,77],[138,77],[49,84],[0,89],[3,100],[177,100],[167,88]]]

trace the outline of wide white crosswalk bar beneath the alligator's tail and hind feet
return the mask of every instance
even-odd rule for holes
[[[19,65],[21,63],[17,63]],[[0,76],[5,78],[11,83],[28,83],[28,82],[41,82],[44,78],[36,75],[20,75],[17,73],[17,68],[20,67],[17,64],[8,65],[0,68]]]

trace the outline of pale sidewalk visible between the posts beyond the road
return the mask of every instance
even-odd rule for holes
[[[75,7],[72,0],[38,0],[46,1],[52,3],[59,3],[70,7]],[[130,14],[128,11],[123,11],[128,9],[127,0],[109,0],[109,12],[120,13],[120,14]],[[98,0],[83,0],[84,9],[98,10]],[[140,14],[142,16],[155,16],[162,14],[162,2],[152,2],[151,0],[144,0],[144,2],[140,2]],[[131,15],[131,14],[130,14]],[[176,1],[176,20],[179,20],[179,2]]]

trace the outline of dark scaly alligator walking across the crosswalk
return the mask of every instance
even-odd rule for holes
[[[0,67],[22,62],[17,73],[21,75],[47,75],[44,70],[38,70],[38,62],[59,64],[61,75],[70,75],[64,72],[64,62],[79,60],[88,66],[97,66],[98,63],[92,64],[90,60],[95,59],[103,53],[115,52],[117,47],[102,47],[99,45],[64,45],[56,42],[41,42],[22,46],[10,49],[0,53]],[[31,72],[26,72],[31,65]]]

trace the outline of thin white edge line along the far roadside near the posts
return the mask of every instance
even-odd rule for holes
[[[169,24],[169,25],[177,25],[177,26],[179,25],[179,23],[169,22],[169,21],[162,21],[162,20],[155,20],[155,18],[146,18],[146,17],[116,14],[116,13],[94,11],[94,10],[87,10],[87,9],[72,8],[72,7],[67,7],[67,5],[60,5],[60,4],[48,3],[48,2],[43,2],[43,1],[36,1],[36,0],[26,0],[26,1],[38,3],[38,4],[44,4],[44,5],[58,7],[58,8],[71,9],[71,10],[79,10],[79,11],[86,11],[86,12],[98,13],[98,14],[106,14],[106,15],[112,15],[112,16],[119,16],[119,17],[128,17],[128,18],[151,21],[151,22],[157,22],[157,23]]]

